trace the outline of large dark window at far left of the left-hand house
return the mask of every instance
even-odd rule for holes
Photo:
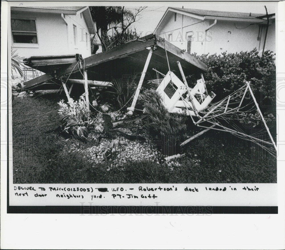
[[[11,19],[14,43],[38,43],[36,20]]]

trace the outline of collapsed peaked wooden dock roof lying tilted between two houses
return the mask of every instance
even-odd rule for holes
[[[58,84],[60,78],[82,80],[80,70],[87,70],[88,80],[101,82],[112,82],[113,78],[141,74],[151,48],[153,50],[152,56],[145,72],[148,80],[156,78],[152,68],[156,68],[161,72],[168,71],[165,49],[168,53],[171,68],[177,68],[176,61],[179,60],[184,73],[188,75],[193,74],[193,72],[204,72],[207,69],[204,63],[190,54],[151,34],[85,59],[82,59],[80,55],[27,58],[26,65],[46,74],[25,82],[24,89],[58,89],[60,87]],[[66,82],[66,84],[71,85],[72,82]]]

